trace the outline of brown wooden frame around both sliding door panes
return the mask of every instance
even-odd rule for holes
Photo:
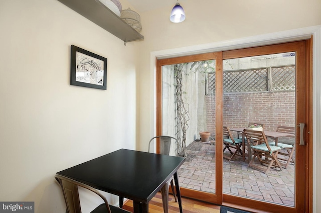
[[[286,43],[286,44],[278,44],[277,46],[281,47],[284,45],[290,45],[289,47],[289,52],[292,49],[295,49],[297,47],[298,42],[292,42],[292,43]],[[294,45],[293,48],[291,45]],[[271,46],[264,46],[266,48],[267,54],[272,54],[273,51],[271,51]],[[307,91],[309,91],[309,95],[306,95],[306,101],[307,105],[304,106],[307,109],[310,109],[309,114],[306,114],[305,117],[307,118],[307,129],[305,131],[305,140],[308,143],[306,145],[305,149],[305,160],[306,160],[306,181],[304,181],[304,186],[305,186],[305,200],[303,204],[300,204],[300,209],[304,208],[306,212],[309,212],[309,210],[312,209],[312,85],[309,82],[312,78],[312,54],[311,54],[311,47],[312,47],[312,40],[308,40],[304,43],[304,46],[309,47],[307,48],[307,51],[305,52],[306,58],[305,61],[307,63],[302,63],[304,66],[304,69],[307,70],[307,83],[305,84],[307,86]],[[273,47],[276,47],[273,45]],[[256,51],[260,48],[260,54],[262,53],[262,48],[263,47],[256,47],[256,48],[245,48],[242,50],[231,50],[231,51],[225,51],[221,52],[223,54],[218,54],[218,55],[213,55],[216,53],[205,53],[205,54],[199,54],[199,55],[191,55],[191,56],[183,56],[183,57],[177,57],[177,58],[169,58],[169,59],[160,59],[156,61],[156,135],[162,134],[162,123],[159,123],[159,121],[162,121],[162,85],[159,85],[159,82],[162,82],[162,66],[163,65],[170,65],[170,64],[178,64],[178,63],[187,63],[187,62],[194,62],[194,61],[202,61],[202,60],[211,60],[213,58],[217,59],[217,62],[219,61],[219,58],[221,62],[223,59],[227,58],[236,58],[238,57],[238,52],[243,51],[242,57],[246,56],[254,56],[256,54]],[[244,51],[248,51],[244,55]],[[275,51],[277,53],[277,51]],[[222,56],[223,55],[223,56]],[[213,57],[214,56],[214,57]],[[222,66],[221,66],[222,67]],[[221,79],[221,80],[219,80]],[[216,72],[216,91],[222,91],[220,93],[216,94],[216,138],[218,141],[223,140],[223,72],[222,70],[219,71],[217,70]],[[158,122],[157,122],[158,121]],[[308,134],[307,134],[308,133]],[[297,134],[298,135],[298,134]],[[298,136],[297,136],[298,137]],[[220,143],[219,143],[220,144]],[[262,201],[258,200],[252,200],[248,198],[240,198],[238,197],[239,201],[236,203],[235,201],[235,196],[229,195],[229,194],[223,194],[222,192],[222,179],[223,179],[223,168],[222,167],[222,160],[223,160],[223,154],[220,155],[219,153],[222,153],[221,151],[223,150],[222,146],[217,146],[217,156],[216,156],[216,165],[221,165],[217,167],[217,172],[216,172],[216,194],[212,193],[207,193],[207,192],[201,192],[198,190],[192,190],[192,189],[185,189],[182,188],[182,194],[185,196],[190,196],[193,198],[197,198],[203,201],[207,202],[213,202],[217,204],[222,204],[224,200],[224,204],[226,205],[233,205],[233,206],[246,206],[246,203],[256,203],[257,206],[262,206],[261,203]],[[220,151],[221,150],[221,151]],[[219,162],[218,162],[219,161]],[[296,194],[296,196],[300,196]],[[297,211],[292,211],[291,208],[286,207],[286,206],[280,206],[276,204],[271,204],[271,203],[266,203],[266,205],[269,206],[269,209],[273,209],[275,212],[282,212],[284,210],[288,212],[297,212]],[[266,206],[265,205],[265,206]],[[251,209],[251,208],[247,208]],[[293,209],[293,208],[292,208]],[[253,210],[253,209],[252,209]],[[256,209],[257,210],[257,209]],[[261,209],[263,210],[263,209]]]

